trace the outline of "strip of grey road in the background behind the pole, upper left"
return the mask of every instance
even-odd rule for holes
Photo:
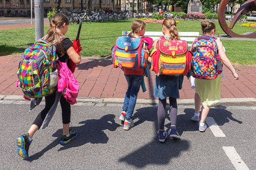
[[[44,19],[45,23],[48,23],[48,18]],[[30,24],[31,19],[2,19],[0,18],[0,26],[1,25],[20,25],[20,24]],[[33,18],[32,23],[35,23],[35,19]]]

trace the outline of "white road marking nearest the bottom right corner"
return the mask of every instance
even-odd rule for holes
[[[239,154],[237,153],[236,149],[234,147],[222,147],[223,150],[226,153],[226,156],[228,156],[228,159],[231,160],[231,163],[234,165],[234,167],[237,170],[247,170],[249,169],[248,166],[243,162]]]

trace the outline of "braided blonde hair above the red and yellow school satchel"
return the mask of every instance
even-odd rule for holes
[[[176,28],[176,21],[173,18],[167,17],[164,19],[163,25],[170,32],[170,40],[180,40],[180,35]]]

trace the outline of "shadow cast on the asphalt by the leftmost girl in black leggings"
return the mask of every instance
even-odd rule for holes
[[[120,127],[114,121],[115,115],[109,114],[104,115],[99,120],[86,120],[81,121],[80,124],[83,126],[73,127],[73,129],[77,130],[78,136],[72,142],[67,145],[63,145],[58,151],[67,150],[73,147],[80,147],[81,145],[91,143],[91,144],[107,144],[108,136],[104,133],[104,130],[114,131],[117,127]],[[96,135],[95,135],[96,134]],[[28,161],[32,162],[33,160],[39,159],[43,156],[46,151],[51,150],[60,144],[60,136],[62,136],[62,129],[58,129],[52,136],[57,137],[51,144],[49,144],[46,148],[44,148],[39,153],[36,153],[30,157],[28,157]]]

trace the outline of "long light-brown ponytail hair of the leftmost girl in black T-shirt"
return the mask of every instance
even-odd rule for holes
[[[50,28],[48,28],[47,30],[47,37],[45,39],[46,41],[53,42],[55,40],[57,42],[55,46],[61,56],[63,56],[65,53],[60,41],[60,38],[63,35],[61,35],[60,32],[56,30],[56,28],[60,28],[61,26],[63,26],[64,23],[66,23],[66,25],[69,25],[69,19],[67,19],[67,17],[62,13],[55,14],[50,20]]]

